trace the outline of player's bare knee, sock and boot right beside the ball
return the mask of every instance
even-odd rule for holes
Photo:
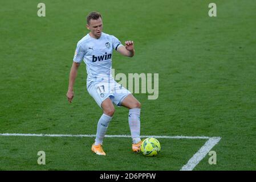
[[[121,105],[129,109],[128,121],[132,135],[132,150],[134,152],[140,151],[140,108],[141,104],[136,98],[129,94],[121,102]]]

